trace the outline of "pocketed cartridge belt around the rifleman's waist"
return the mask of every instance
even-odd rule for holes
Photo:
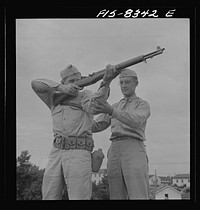
[[[94,148],[94,141],[88,136],[68,136],[54,135],[53,146],[63,150],[82,149],[92,151]]]

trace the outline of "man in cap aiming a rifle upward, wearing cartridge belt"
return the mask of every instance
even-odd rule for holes
[[[74,84],[81,79],[81,73],[73,65],[60,72],[61,84],[48,79],[32,81],[33,90],[48,106],[53,119],[54,141],[43,177],[43,200],[61,200],[65,185],[70,200],[91,198],[92,121],[95,114],[90,108],[91,99],[108,98],[113,73],[113,69],[107,69],[103,78],[107,85],[95,94],[89,90],[80,91]],[[70,103],[62,101],[55,105],[56,91],[74,98]]]

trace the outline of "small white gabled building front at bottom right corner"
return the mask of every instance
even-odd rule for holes
[[[161,185],[154,191],[155,200],[181,200],[181,192],[170,185]]]

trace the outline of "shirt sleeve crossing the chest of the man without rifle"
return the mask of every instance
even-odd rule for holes
[[[113,109],[112,117],[121,123],[131,127],[139,128],[150,116],[150,106],[148,102],[142,101],[137,108],[129,110]]]

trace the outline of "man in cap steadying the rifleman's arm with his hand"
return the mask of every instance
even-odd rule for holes
[[[114,69],[114,66],[113,66]],[[119,75],[124,98],[114,105],[94,100],[92,109],[101,114],[93,123],[93,132],[111,125],[111,146],[108,150],[108,183],[110,199],[148,199],[148,159],[144,141],[150,106],[136,96],[138,77],[124,69]]]

